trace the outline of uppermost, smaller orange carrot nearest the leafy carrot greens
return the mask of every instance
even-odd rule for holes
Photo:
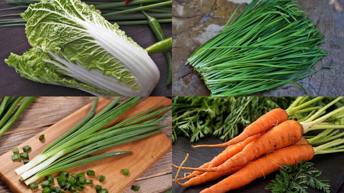
[[[234,137],[232,140],[226,143],[215,145],[193,145],[192,147],[224,147],[228,145],[233,145],[244,141],[247,137],[259,133],[264,133],[273,126],[280,124],[286,120],[288,120],[288,114],[286,113],[286,111],[279,108],[273,109],[259,117],[256,121],[248,125],[240,135]]]

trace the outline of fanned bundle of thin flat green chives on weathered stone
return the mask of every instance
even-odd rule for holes
[[[186,64],[202,76],[212,96],[249,95],[311,75],[327,53],[318,47],[323,37],[315,24],[296,5],[293,0],[253,0]]]

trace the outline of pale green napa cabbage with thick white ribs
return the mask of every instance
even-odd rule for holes
[[[31,4],[21,16],[34,48],[5,62],[25,78],[111,96],[148,96],[159,81],[147,51],[79,0]]]

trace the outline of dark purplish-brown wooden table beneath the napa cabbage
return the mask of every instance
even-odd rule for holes
[[[4,0],[0,0],[0,3]],[[0,9],[11,7],[0,4]],[[12,5],[13,7],[13,5]],[[0,11],[0,15],[20,13],[20,10]],[[9,19],[11,17],[6,17]],[[0,17],[5,19],[5,17]],[[166,37],[172,35],[172,24],[161,24]],[[120,26],[129,37],[132,37],[141,47],[146,48],[157,40],[148,25]],[[79,89],[41,84],[22,78],[14,68],[9,67],[4,59],[11,52],[21,55],[30,48],[24,26],[0,27],[0,95],[1,96],[93,96]],[[172,96],[172,85],[166,86],[167,63],[163,53],[150,55],[160,70],[160,80],[151,96]]]

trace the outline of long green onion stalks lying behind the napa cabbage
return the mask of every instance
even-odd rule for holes
[[[16,7],[0,9],[15,10],[27,9],[29,4],[39,3],[41,0],[6,0],[6,4],[19,4]],[[50,0],[48,0],[50,1]],[[83,1],[95,9],[101,11],[102,15],[110,23],[117,23],[118,25],[139,25],[147,24],[146,17],[141,13],[141,10],[147,11],[150,15],[157,18],[159,23],[172,23],[172,0],[133,0],[125,4],[124,0],[98,0],[98,1]],[[25,4],[25,5],[24,5]],[[140,6],[143,4],[143,6]],[[23,11],[24,11],[23,10]],[[0,17],[20,16],[17,14],[0,15]],[[22,18],[15,19],[1,19],[0,27],[25,25],[25,20]]]

